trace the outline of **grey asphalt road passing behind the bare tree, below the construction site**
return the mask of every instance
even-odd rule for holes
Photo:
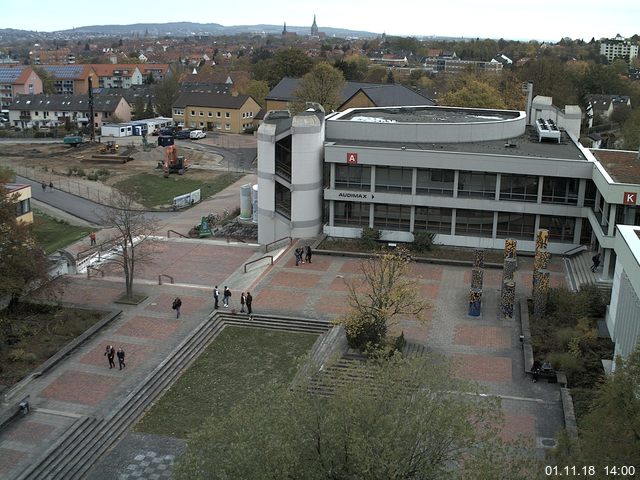
[[[31,185],[31,196],[36,200],[70,213],[94,225],[102,225],[100,217],[104,213],[103,205],[63,192],[62,190],[51,191],[49,187],[43,192],[40,183],[25,177],[16,176],[16,182]],[[149,217],[155,217],[158,220],[166,220],[176,215],[176,212],[149,212],[147,215]]]

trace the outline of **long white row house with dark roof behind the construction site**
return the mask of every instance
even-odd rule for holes
[[[89,124],[89,95],[20,95],[7,107],[10,125],[17,128]],[[93,97],[93,124],[131,121],[131,107],[123,96]]]

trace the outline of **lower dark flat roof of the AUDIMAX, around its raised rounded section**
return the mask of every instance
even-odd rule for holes
[[[516,112],[517,113],[517,112]],[[443,152],[481,153],[490,155],[509,155],[516,157],[558,158],[562,160],[576,160],[588,162],[582,150],[563,133],[561,142],[547,140],[538,142],[538,136],[533,127],[527,127],[524,135],[509,140],[486,140],[481,142],[451,142],[451,143],[406,143],[406,142],[374,142],[366,140],[332,140],[326,142],[341,146],[362,146],[407,150],[435,150]],[[638,182],[640,183],[640,181]]]

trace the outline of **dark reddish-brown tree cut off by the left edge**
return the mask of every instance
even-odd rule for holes
[[[32,227],[16,220],[17,194],[5,187],[6,170],[0,171],[0,298],[8,298],[9,310],[29,289],[43,286],[48,280],[48,262],[37,245]]]

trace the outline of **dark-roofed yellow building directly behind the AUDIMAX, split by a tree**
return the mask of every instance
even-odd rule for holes
[[[300,79],[285,77],[265,97],[266,110],[288,110],[297,98]],[[399,84],[345,82],[337,111],[355,107],[434,105],[429,98]]]

